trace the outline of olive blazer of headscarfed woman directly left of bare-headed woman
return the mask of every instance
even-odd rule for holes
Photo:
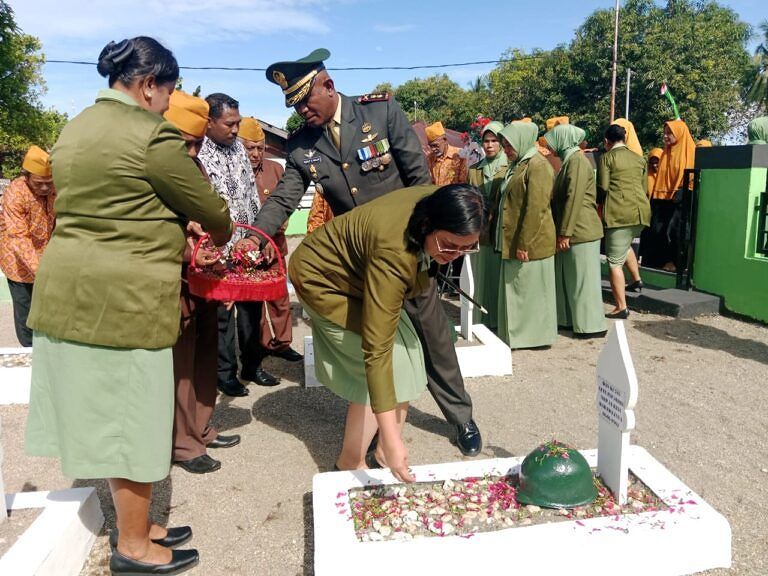
[[[552,216],[557,234],[568,236],[571,244],[603,237],[603,224],[597,214],[595,169],[581,151],[574,152],[557,173]]]

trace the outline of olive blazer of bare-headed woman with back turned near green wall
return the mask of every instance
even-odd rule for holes
[[[604,203],[605,227],[648,226],[651,204],[647,187],[645,158],[626,146],[614,147],[603,154],[597,165],[597,193]]]

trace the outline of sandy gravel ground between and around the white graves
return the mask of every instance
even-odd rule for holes
[[[453,307],[455,303],[447,303]],[[609,308],[606,306],[606,310]],[[294,310],[298,316],[298,310]],[[308,333],[296,321],[301,350]],[[639,380],[632,442],[648,449],[731,523],[733,568],[712,576],[768,574],[768,327],[722,316],[674,320],[635,314],[626,322]],[[0,305],[0,346],[15,345],[9,305]],[[561,334],[549,350],[513,353],[514,376],[467,381],[485,440],[481,458],[524,456],[557,438],[597,445],[595,365],[602,341]],[[301,387],[301,364],[270,358],[277,388],[251,387],[245,398],[220,398],[222,433],[242,434],[232,449],[211,451],[220,471],[203,476],[173,468],[156,486],[154,518],[190,524],[201,563],[190,574],[311,575],[312,476],[329,470],[340,448],[344,402]],[[114,526],[102,481],[73,482],[50,460],[23,453],[25,406],[0,407],[6,489],[96,486]],[[414,402],[405,440],[412,464],[462,458],[452,430],[428,393]],[[102,535],[83,576],[108,574]]]

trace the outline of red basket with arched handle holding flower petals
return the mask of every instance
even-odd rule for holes
[[[272,238],[258,228],[248,226],[247,224],[236,223],[235,227],[247,228],[266,238],[277,255],[277,275],[270,275],[269,278],[254,282],[244,282],[242,280],[211,275],[205,268],[195,265],[197,251],[202,243],[208,239],[208,234],[204,234],[195,244],[194,250],[192,250],[192,262],[187,270],[189,291],[195,296],[221,302],[263,302],[287,296],[288,283],[285,279],[285,263],[283,262],[280,250],[277,249]],[[269,270],[271,269],[272,267],[269,268]]]

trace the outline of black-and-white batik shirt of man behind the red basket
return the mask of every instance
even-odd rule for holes
[[[219,146],[206,137],[197,157],[205,166],[216,192],[227,201],[232,220],[253,225],[261,203],[256,192],[256,178],[242,142],[235,140],[232,146]],[[232,241],[244,236],[245,231],[240,228]]]

